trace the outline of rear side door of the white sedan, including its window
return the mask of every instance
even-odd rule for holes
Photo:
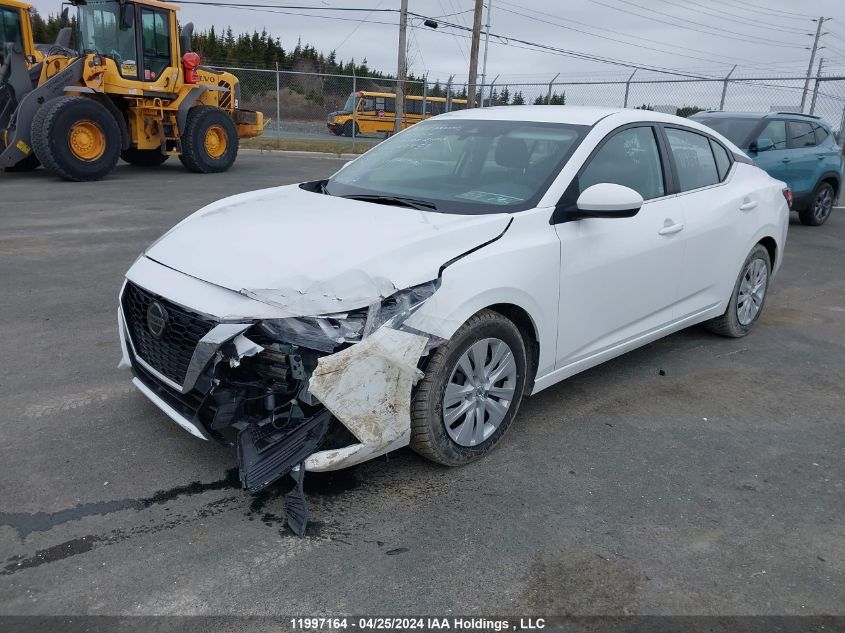
[[[732,177],[730,153],[715,139],[680,126],[663,132],[685,224],[677,316],[692,319],[730,296],[760,201]]]

